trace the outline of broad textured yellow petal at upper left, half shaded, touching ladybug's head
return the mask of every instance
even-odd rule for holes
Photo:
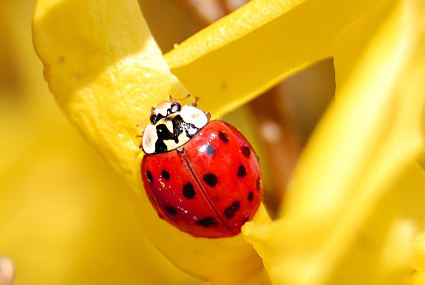
[[[136,124],[149,106],[187,92],[168,70],[137,1],[40,0],[33,38],[59,107],[116,172],[139,180]]]

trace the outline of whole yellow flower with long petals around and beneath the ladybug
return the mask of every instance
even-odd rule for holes
[[[425,221],[416,162],[424,18],[420,0],[257,0],[163,56],[135,0],[39,0],[33,37],[57,104],[131,189],[147,236],[181,270],[211,284],[401,284],[409,262],[424,268],[413,242]],[[243,235],[210,240],[156,216],[135,128],[150,105],[189,90],[220,117],[331,56],[335,100],[279,219],[261,208]]]

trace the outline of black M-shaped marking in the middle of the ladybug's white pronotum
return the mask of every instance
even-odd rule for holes
[[[199,131],[193,124],[186,123],[183,121],[182,116],[177,115],[171,119],[173,123],[173,133],[171,133],[165,124],[159,124],[156,126],[156,135],[158,139],[155,142],[155,152],[161,153],[168,151],[167,145],[164,141],[173,140],[175,143],[179,142],[179,136],[181,133],[186,132],[186,136],[191,139]]]

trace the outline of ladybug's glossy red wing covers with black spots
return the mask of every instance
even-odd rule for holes
[[[223,121],[207,123],[182,151],[146,154],[141,174],[158,216],[193,237],[239,234],[261,202],[258,158]]]

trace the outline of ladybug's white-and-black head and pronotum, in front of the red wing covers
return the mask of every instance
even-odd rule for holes
[[[175,100],[159,102],[151,108],[150,124],[143,132],[142,150],[167,152],[182,147],[208,123],[209,113],[193,105],[182,106]]]

